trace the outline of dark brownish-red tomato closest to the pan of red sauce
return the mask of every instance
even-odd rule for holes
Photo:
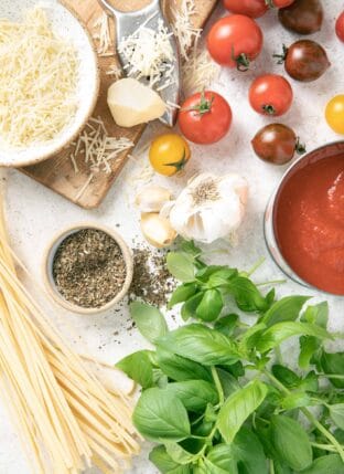
[[[282,124],[270,124],[261,128],[251,140],[255,154],[264,161],[273,165],[286,165],[295,151],[305,152],[294,131]]]

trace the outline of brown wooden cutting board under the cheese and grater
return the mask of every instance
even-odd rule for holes
[[[175,0],[180,4],[182,0]],[[196,28],[202,28],[209,18],[216,0],[194,0],[196,6],[196,14],[193,17],[193,23]],[[150,0],[112,0],[112,4],[122,11],[137,10],[148,4]],[[79,18],[84,21],[87,29],[94,33],[94,23],[101,14],[101,8],[97,0],[64,0],[64,3],[76,11]],[[173,4],[172,0],[164,0],[166,14]],[[114,36],[112,36],[114,38]],[[114,82],[114,77],[106,74],[109,67],[116,64],[116,56],[99,56],[100,67],[100,94],[98,103],[94,110],[94,117],[101,117],[112,137],[128,137],[135,144],[138,143],[142,135],[146,125],[140,125],[133,128],[120,128],[115,123],[107,106],[106,96],[109,85]],[[69,146],[57,156],[50,158],[39,165],[21,168],[21,171],[42,185],[51,188],[53,191],[67,198],[69,201],[85,209],[97,208],[106,197],[115,179],[120,173],[125,166],[128,154],[132,150],[125,151],[111,164],[111,172],[98,172],[90,179],[89,166],[84,162],[83,156],[76,156],[78,172],[75,172],[74,165],[71,160],[71,154],[75,146]]]

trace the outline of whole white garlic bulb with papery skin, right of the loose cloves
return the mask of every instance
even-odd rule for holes
[[[228,238],[241,223],[248,196],[244,178],[204,172],[189,181],[174,203],[161,211],[184,239],[212,243]]]

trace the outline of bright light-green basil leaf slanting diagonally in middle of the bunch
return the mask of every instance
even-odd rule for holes
[[[268,388],[259,380],[247,383],[243,389],[233,393],[218,413],[217,426],[226,441],[230,443],[247,418],[260,405]]]

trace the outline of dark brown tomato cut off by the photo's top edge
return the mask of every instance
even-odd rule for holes
[[[295,0],[278,12],[279,21],[287,30],[311,34],[321,30],[324,10],[320,0]]]

